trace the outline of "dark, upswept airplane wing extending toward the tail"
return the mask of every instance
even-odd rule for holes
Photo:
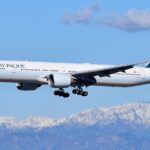
[[[134,66],[143,64],[143,63],[146,63],[146,62],[112,66],[112,67],[96,69],[96,70],[81,71],[81,72],[76,72],[76,73],[72,74],[72,76],[75,77],[76,79],[86,79],[86,78],[90,78],[90,77],[94,77],[94,76],[100,76],[100,77],[108,76],[109,77],[111,74],[114,74],[117,72],[125,72],[126,70],[131,69]]]

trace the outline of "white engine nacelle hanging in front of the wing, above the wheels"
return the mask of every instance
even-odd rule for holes
[[[65,88],[71,85],[72,79],[68,74],[51,74],[49,76],[50,86],[54,88]]]

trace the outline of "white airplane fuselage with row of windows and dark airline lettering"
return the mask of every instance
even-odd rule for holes
[[[45,63],[28,61],[0,61],[0,82],[48,84],[44,78],[50,74],[73,74],[76,72],[101,69],[110,65]],[[126,72],[111,74],[109,77],[95,76],[99,86],[136,86],[150,83],[150,69],[134,67]]]

